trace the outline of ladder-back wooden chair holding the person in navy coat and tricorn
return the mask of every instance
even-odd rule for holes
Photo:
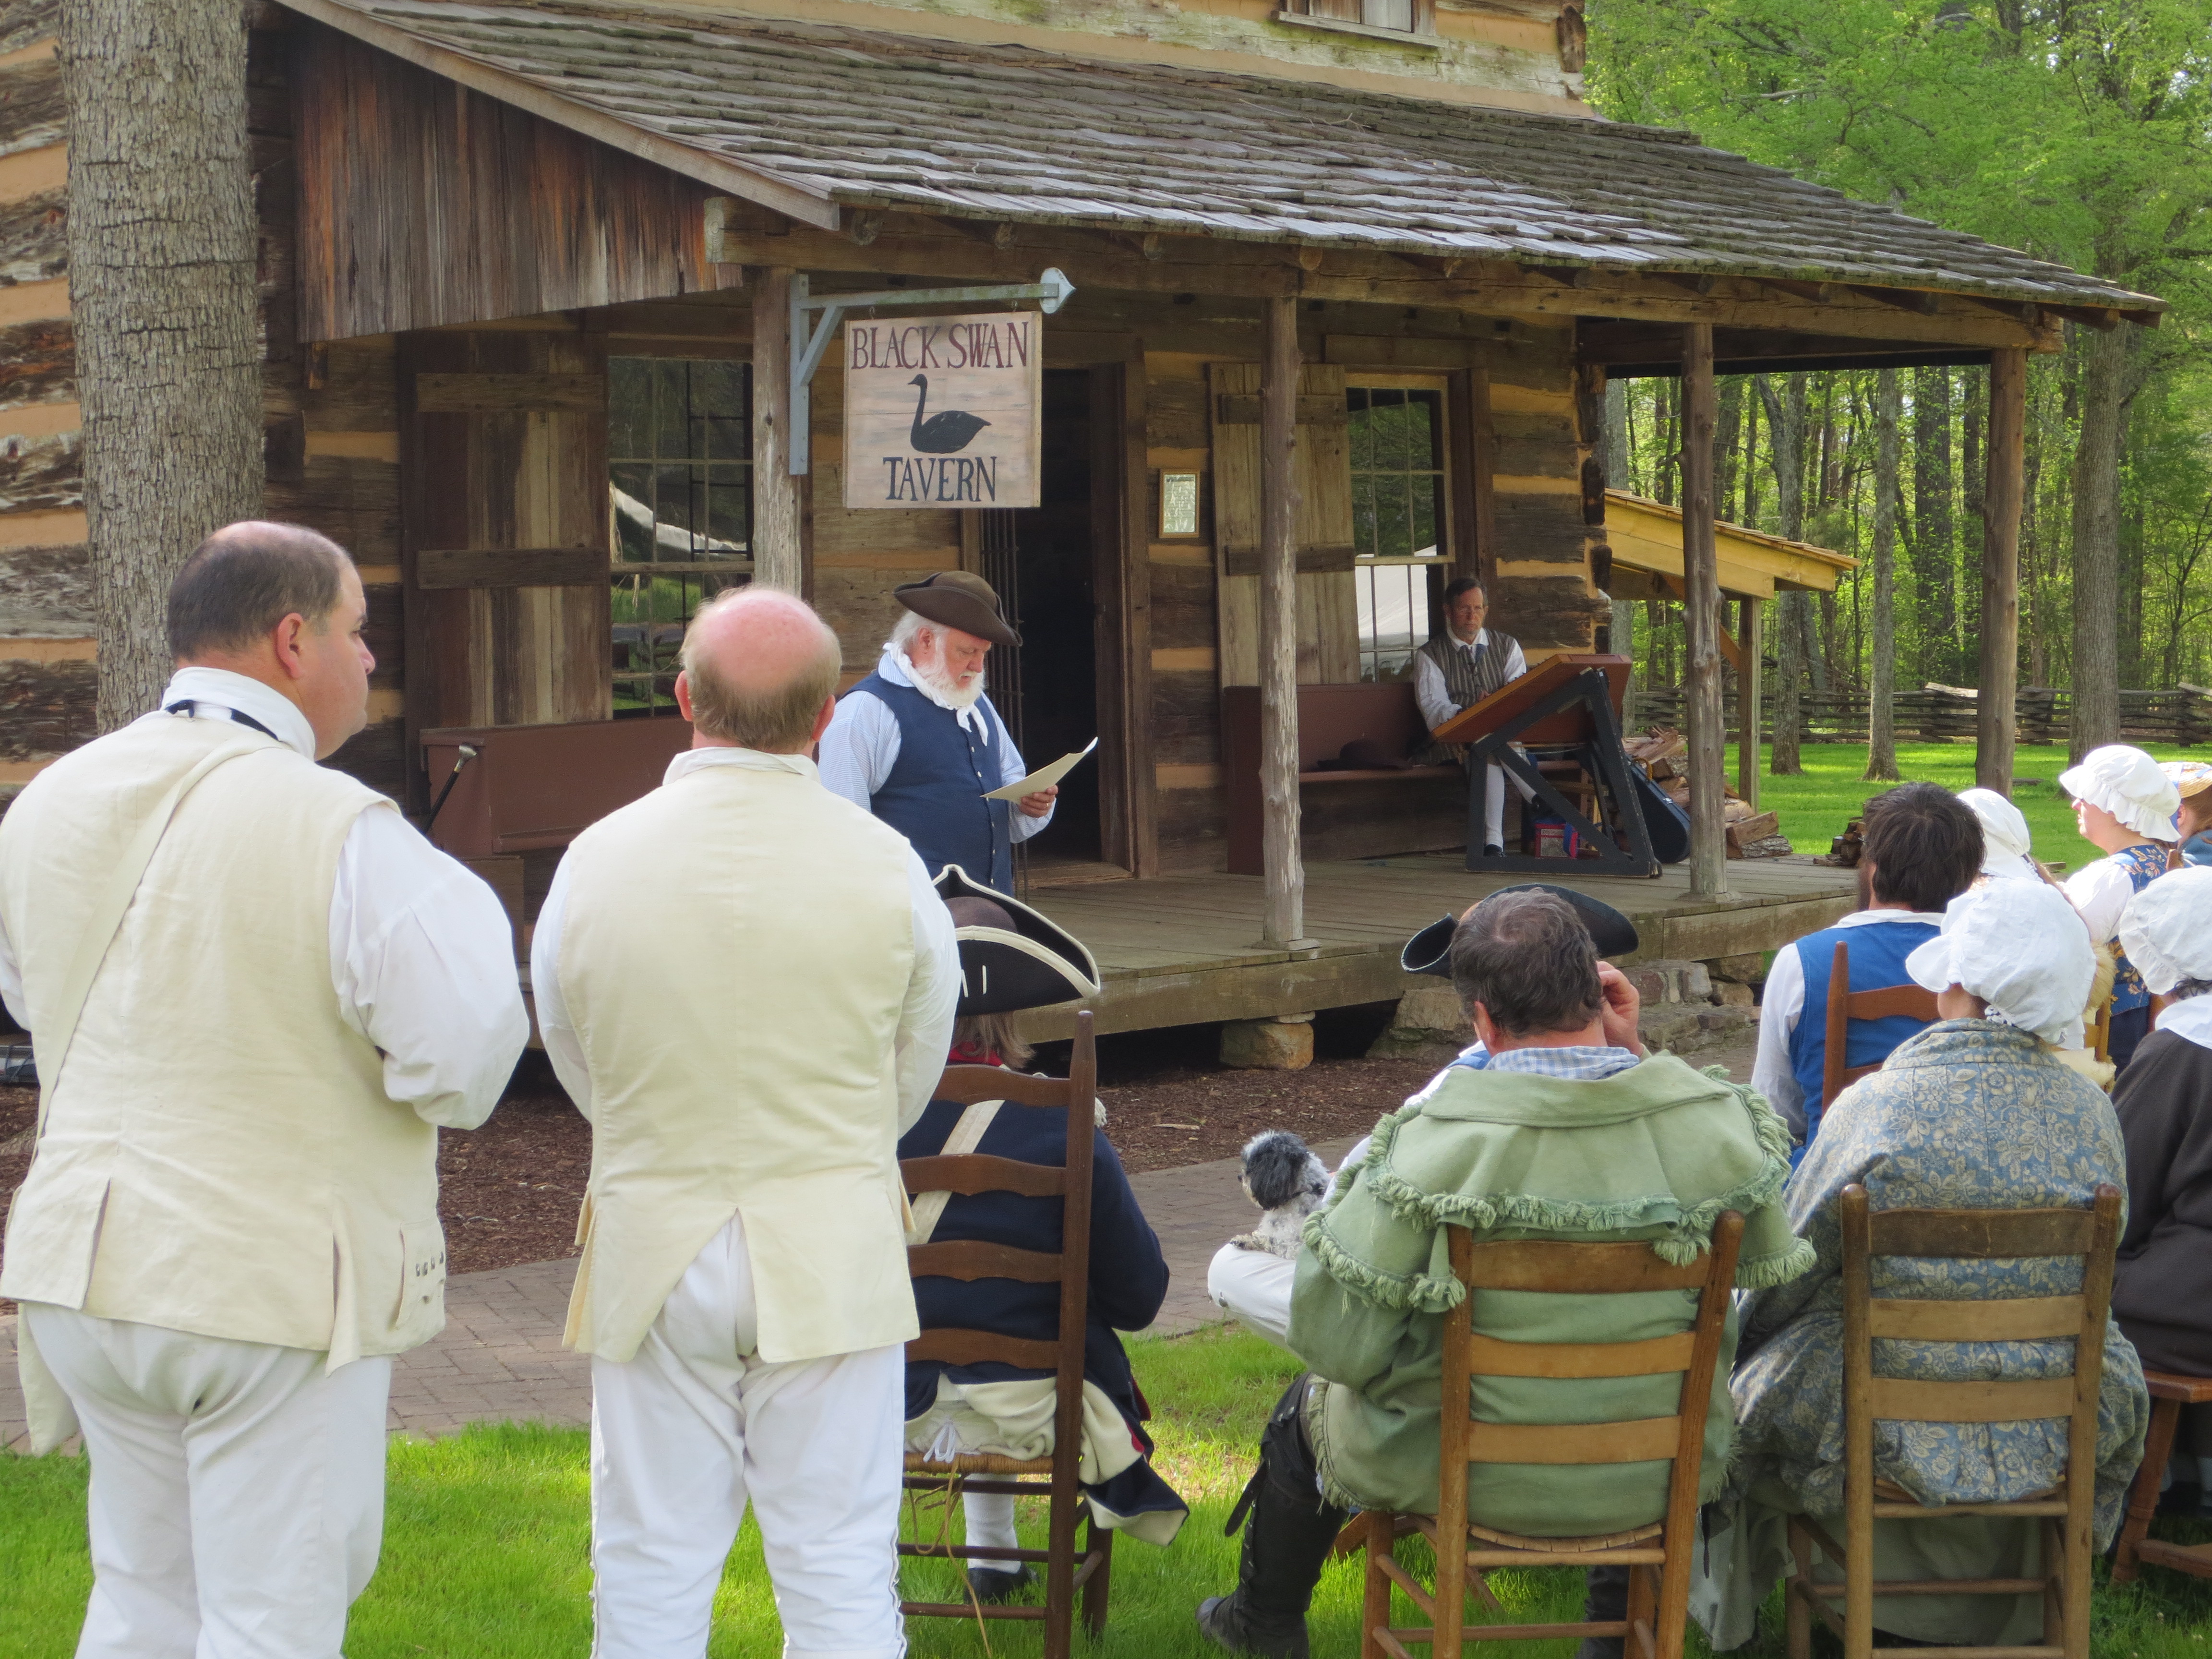
[[[900,1601],[911,1617],[949,1619],[1042,1619],[1046,1659],[1066,1659],[1075,1593],[1082,1590],[1084,1628],[1097,1635],[1106,1628],[1106,1593],[1113,1571],[1113,1533],[1097,1524],[1075,1484],[1082,1464],[1084,1431],[1084,1316],[1091,1290],[1091,1135],[1095,1128],[1097,1048],[1091,1035],[1091,1011],[1075,1015],[1075,1053],[1066,1077],[1029,1077],[1000,1066],[947,1066],[936,1099],[962,1106],[998,1099],[1006,1106],[1060,1106],[1068,1117],[1066,1164],[1018,1164],[1004,1157],[916,1157],[900,1164],[909,1192],[1020,1192],[1024,1197],[1057,1197],[1062,1201],[1060,1252],[1013,1250],[1009,1245],[960,1239],[920,1243],[907,1250],[907,1267],[916,1279],[1018,1279],[1031,1285],[1060,1285],[1060,1336],[1051,1343],[995,1336],[971,1329],[927,1329],[907,1343],[909,1360],[945,1360],[947,1365],[980,1365],[998,1360],[1031,1371],[1053,1371],[1053,1453],[1048,1458],[958,1455],[951,1462],[929,1462],[907,1453],[907,1491],[953,1493],[982,1491],[1015,1498],[1046,1498],[1046,1548],[989,1548],[978,1544],[898,1544],[900,1555],[938,1559],[1042,1562],[1044,1606],[978,1606],[973,1601]],[[1084,1548],[1077,1555],[1075,1524],[1084,1522]]]

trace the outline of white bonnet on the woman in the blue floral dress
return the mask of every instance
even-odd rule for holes
[[[2059,1042],[2081,1018],[2097,958],[2057,887],[2006,880],[1953,898],[1942,933],[1905,958],[1905,971],[1929,991],[1971,991],[1991,1020]]]

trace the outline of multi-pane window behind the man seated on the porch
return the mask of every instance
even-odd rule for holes
[[[1444,394],[1347,387],[1360,679],[1411,679],[1444,553]]]

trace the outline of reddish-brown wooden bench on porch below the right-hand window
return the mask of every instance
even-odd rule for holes
[[[1380,858],[1467,841],[1458,765],[1321,770],[1367,739],[1411,754],[1429,737],[1413,681],[1298,686],[1298,838],[1307,858]],[[1259,686],[1221,688],[1221,770],[1230,807],[1230,874],[1261,872]]]

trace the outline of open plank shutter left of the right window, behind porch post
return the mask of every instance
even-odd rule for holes
[[[1259,684],[1259,363],[1212,365],[1214,575],[1221,595],[1221,684]],[[1352,575],[1352,429],[1345,372],[1298,372],[1298,681],[1360,677]]]

